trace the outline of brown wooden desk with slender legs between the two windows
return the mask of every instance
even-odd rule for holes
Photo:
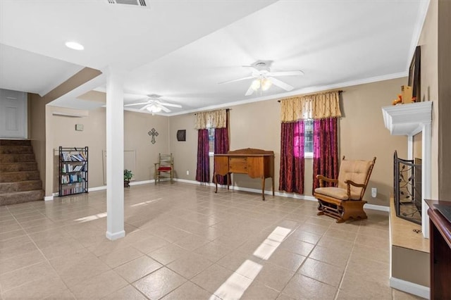
[[[217,175],[227,177],[227,189],[230,186],[230,174],[247,174],[251,178],[261,178],[261,197],[265,199],[265,179],[271,177],[274,196],[274,152],[261,149],[239,149],[227,154],[214,155],[213,179],[218,192]]]

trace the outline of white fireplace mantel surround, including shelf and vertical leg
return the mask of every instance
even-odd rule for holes
[[[409,158],[412,159],[413,136],[421,135],[421,231],[429,237],[429,219],[424,199],[431,198],[431,123],[432,101],[398,104],[382,108],[383,122],[391,135],[407,135]]]

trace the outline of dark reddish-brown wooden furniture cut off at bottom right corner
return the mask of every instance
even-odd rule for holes
[[[433,206],[451,201],[426,200],[431,243],[431,299],[451,299],[451,223]]]

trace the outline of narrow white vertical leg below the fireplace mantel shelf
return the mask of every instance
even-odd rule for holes
[[[429,238],[428,204],[424,199],[431,199],[431,123],[423,125],[421,139],[421,231]]]

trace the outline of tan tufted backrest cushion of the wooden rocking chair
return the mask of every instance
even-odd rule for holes
[[[340,173],[338,174],[338,187],[347,189],[346,180],[352,180],[355,183],[363,185],[371,168],[371,161],[342,161],[340,164]],[[354,187],[351,185],[352,195],[360,195],[362,187]]]

